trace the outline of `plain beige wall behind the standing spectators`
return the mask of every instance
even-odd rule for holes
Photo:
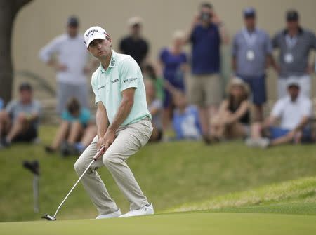
[[[65,31],[69,15],[78,15],[81,32],[92,25],[105,27],[117,48],[118,39],[126,34],[126,20],[140,15],[145,21],[143,34],[151,44],[151,60],[156,60],[160,48],[169,44],[176,29],[187,29],[202,0],[34,0],[20,11],[13,30],[13,62],[16,70],[27,69],[55,83],[51,69],[38,59],[39,49]],[[242,9],[254,6],[258,26],[270,35],[284,27],[284,12],[296,8],[301,13],[303,27],[316,32],[315,0],[213,0],[218,15],[225,22],[230,36],[242,27]],[[229,61],[229,47],[223,48]],[[269,72],[269,97],[275,98],[275,73]],[[314,83],[315,87],[315,83]],[[315,90],[315,89],[314,89]]]

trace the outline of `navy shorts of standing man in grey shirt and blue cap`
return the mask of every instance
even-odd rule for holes
[[[263,105],[267,101],[267,91],[265,88],[265,75],[262,76],[238,76],[244,80],[251,89],[252,102],[255,105]]]

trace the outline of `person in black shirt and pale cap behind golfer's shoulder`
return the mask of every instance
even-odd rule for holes
[[[121,39],[121,42],[119,43],[119,51],[131,55],[140,68],[142,68],[143,62],[145,62],[145,58],[149,51],[148,43],[141,35],[143,20],[138,16],[134,16],[129,19],[128,25],[130,30],[129,35],[124,37],[124,39]]]

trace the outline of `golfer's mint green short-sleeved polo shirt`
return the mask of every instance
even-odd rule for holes
[[[100,64],[92,75],[91,85],[96,95],[96,103],[103,102],[110,123],[121,104],[122,91],[128,88],[136,88],[134,103],[129,116],[121,126],[136,123],[147,116],[151,119],[147,108],[143,75],[137,62],[130,55],[112,51],[109,67],[105,70]]]

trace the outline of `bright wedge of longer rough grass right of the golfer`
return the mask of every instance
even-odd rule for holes
[[[167,211],[298,213],[316,215],[316,177],[290,180],[245,192],[230,193]]]

